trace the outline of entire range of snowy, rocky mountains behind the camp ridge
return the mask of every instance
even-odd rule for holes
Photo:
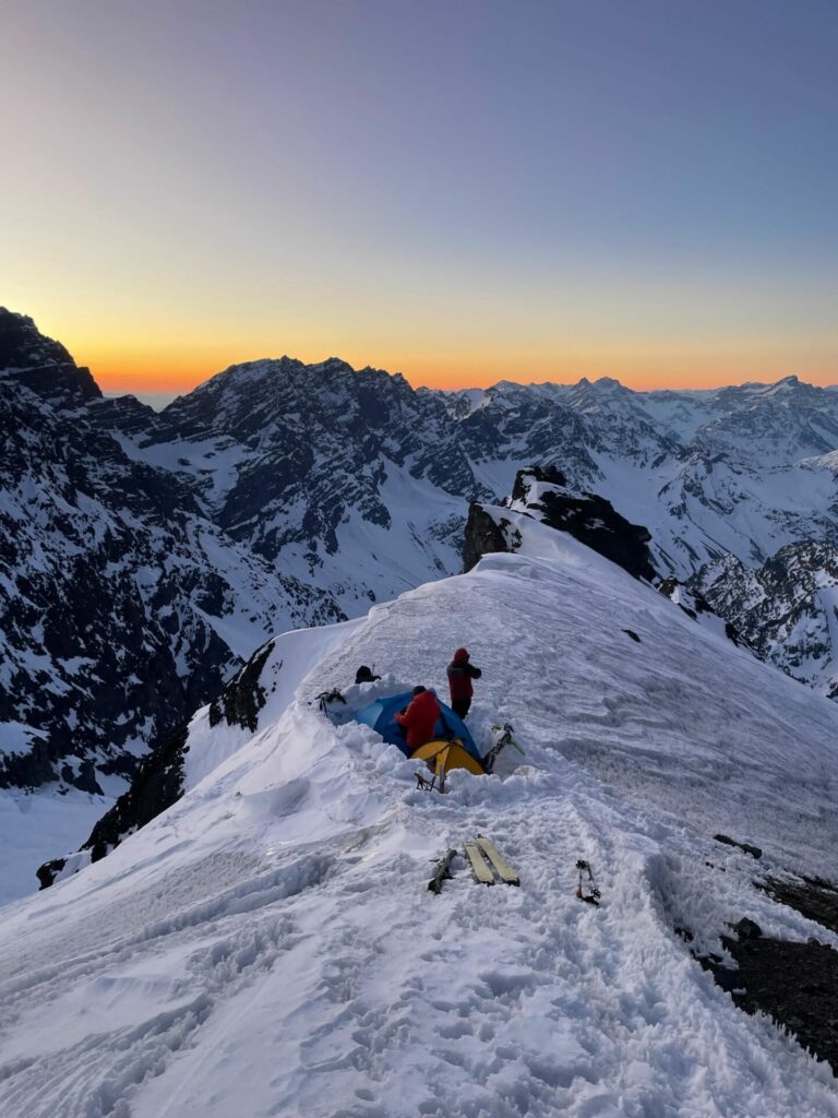
[[[469,503],[535,463],[838,690],[838,391],[794,377],[444,392],[286,357],[155,411],[0,311],[0,787],[107,792],[273,634],[461,570]]]

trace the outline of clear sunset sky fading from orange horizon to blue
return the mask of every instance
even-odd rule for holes
[[[111,390],[838,381],[835,0],[8,0],[0,304]]]

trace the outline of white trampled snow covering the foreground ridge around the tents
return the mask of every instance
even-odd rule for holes
[[[834,872],[838,709],[517,520],[528,553],[283,637],[255,736],[199,713],[187,795],[2,911],[3,1118],[838,1115],[829,1068],[673,930],[838,938],[753,887]],[[499,776],[419,792],[415,762],[310,704],[361,663],[392,675],[349,686],[355,707],[441,689],[463,643],[474,732],[512,721],[526,751]],[[460,859],[428,892],[478,832],[521,888]],[[574,897],[580,858],[600,908]]]

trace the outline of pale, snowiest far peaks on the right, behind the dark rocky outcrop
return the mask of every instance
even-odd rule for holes
[[[787,543],[836,540],[834,389],[796,377],[702,392],[502,382],[448,406],[496,495],[520,466],[555,465],[649,530],[661,572],[686,579],[724,555],[761,563]]]

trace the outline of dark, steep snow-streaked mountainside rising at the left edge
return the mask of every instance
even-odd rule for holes
[[[69,795],[78,839],[255,644],[343,616],[177,472],[128,457],[102,418],[120,409],[151,410],[103,400],[63,347],[0,312],[0,788]]]

